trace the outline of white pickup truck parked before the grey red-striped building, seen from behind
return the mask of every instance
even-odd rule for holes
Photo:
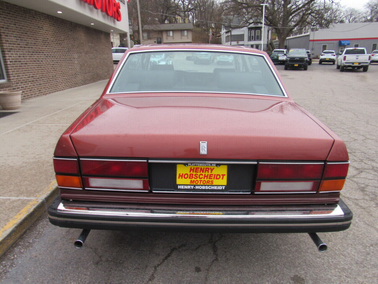
[[[345,48],[344,52],[337,58],[336,69],[341,72],[345,68],[361,69],[366,72],[370,65],[371,55],[366,53],[365,48]]]

